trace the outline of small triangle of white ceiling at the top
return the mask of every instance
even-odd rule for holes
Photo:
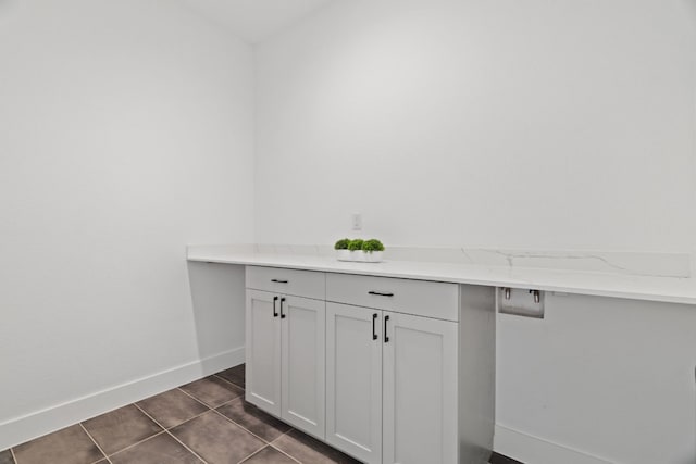
[[[189,10],[256,43],[333,0],[179,0]]]

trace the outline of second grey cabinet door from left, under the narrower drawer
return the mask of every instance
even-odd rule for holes
[[[298,297],[282,300],[281,417],[323,439],[326,303]]]

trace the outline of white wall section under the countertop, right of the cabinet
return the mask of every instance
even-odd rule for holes
[[[496,451],[529,464],[696,462],[696,308],[548,294],[499,314]]]

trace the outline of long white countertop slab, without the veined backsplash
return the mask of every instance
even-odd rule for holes
[[[696,279],[691,276],[645,275],[645,272],[636,275],[631,274],[631,271],[598,272],[402,259],[387,259],[382,263],[349,263],[337,261],[331,253],[322,253],[326,251],[310,254],[291,252],[287,249],[269,252],[268,249],[263,250],[258,246],[190,246],[187,250],[187,259],[210,263],[289,267],[696,304]],[[498,251],[496,253],[500,254]],[[577,261],[577,256],[571,258]],[[601,258],[601,261],[607,260]],[[512,263],[511,260],[509,262]],[[611,266],[614,269],[618,268],[613,264]]]

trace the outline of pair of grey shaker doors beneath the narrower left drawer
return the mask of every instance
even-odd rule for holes
[[[246,400],[324,438],[325,302],[247,289],[246,312]]]

